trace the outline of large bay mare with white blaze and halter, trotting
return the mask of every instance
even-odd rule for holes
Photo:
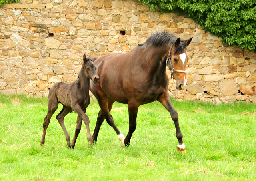
[[[98,100],[101,110],[92,135],[93,143],[97,141],[100,126],[106,119],[116,131],[122,145],[128,146],[132,133],[136,129],[138,107],[157,100],[170,112],[174,121],[176,137],[179,142],[178,151],[186,151],[178,122],[178,113],[172,106],[167,90],[166,64],[170,70],[172,66],[166,59],[169,53],[173,67],[178,69],[175,71],[173,69],[172,74],[176,80],[176,88],[180,90],[187,84],[186,73],[184,73],[189,58],[186,46],[190,44],[191,40],[192,38],[181,41],[180,38],[168,32],[156,33],[130,52],[112,53],[95,60],[94,64],[100,81],[97,84],[93,84],[91,81],[90,91]],[[125,139],[110,114],[115,101],[128,104],[129,132]]]

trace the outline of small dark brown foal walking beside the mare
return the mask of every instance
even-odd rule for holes
[[[60,126],[62,127],[66,140],[67,147],[74,148],[76,144],[76,139],[81,130],[82,120],[86,125],[87,130],[87,139],[89,141],[89,145],[92,145],[92,135],[89,129],[89,118],[85,114],[86,107],[90,104],[90,96],[89,96],[89,84],[90,79],[97,83],[99,80],[99,76],[96,74],[96,68],[93,64],[94,59],[89,56],[86,58],[85,54],[83,56],[82,68],[78,74],[78,78],[75,82],[72,83],[64,83],[64,82],[56,82],[52,88],[50,88],[49,99],[48,99],[48,110],[47,115],[44,118],[43,124],[43,135],[40,141],[41,145],[44,145],[44,139],[46,134],[46,129],[50,123],[50,119],[54,112],[58,108],[58,104],[61,103],[63,105],[62,110],[56,116],[56,119],[59,121]],[[71,111],[75,111],[78,116],[76,120],[76,131],[72,143],[70,143],[70,136],[66,130],[64,125],[64,117],[70,113]]]

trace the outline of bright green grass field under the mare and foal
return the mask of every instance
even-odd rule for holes
[[[64,133],[53,115],[40,147],[47,99],[0,95],[0,180],[255,180],[256,105],[211,105],[172,101],[179,113],[187,153],[176,151],[178,140],[170,115],[158,103],[139,108],[130,147],[121,147],[106,121],[98,142],[88,147],[86,128],[75,149],[66,148]],[[99,106],[92,100],[86,114],[94,131]],[[119,130],[128,133],[127,105],[111,111]],[[65,117],[72,138],[76,113]]]

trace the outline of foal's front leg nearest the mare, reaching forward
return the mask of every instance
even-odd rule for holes
[[[74,106],[72,106],[72,110],[75,111],[78,114],[78,116],[82,117],[84,124],[86,125],[87,139],[89,141],[89,146],[92,146],[92,135],[89,128],[89,124],[90,124],[89,117],[84,113],[83,109],[78,104],[75,104]]]

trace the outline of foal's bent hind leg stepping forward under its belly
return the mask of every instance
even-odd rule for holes
[[[64,117],[71,111],[71,107],[67,107],[66,105],[63,105],[62,110],[58,115],[56,115],[56,119],[60,123],[60,126],[64,132],[65,138],[67,140],[67,147],[70,147],[70,136],[68,135],[68,131],[66,130],[66,127],[64,125]]]

